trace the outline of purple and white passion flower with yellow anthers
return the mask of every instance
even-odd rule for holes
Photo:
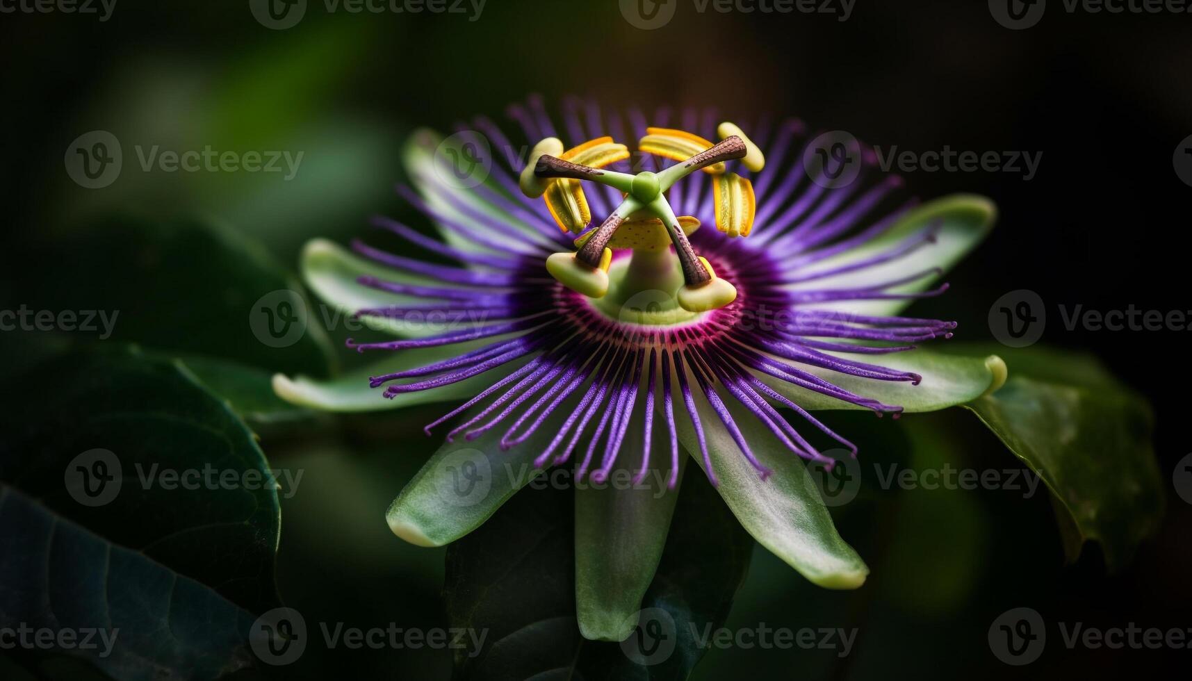
[[[414,187],[399,192],[443,241],[375,219],[455,264],[364,242],[355,254],[308,246],[304,273],[316,292],[406,338],[347,340],[386,355],[367,380],[279,376],[277,391],[335,410],[385,407],[383,396],[461,401],[427,426],[451,423],[448,444],[389,513],[392,530],[420,545],[483,522],[528,482],[513,475],[519,464],[571,466],[577,487],[632,470],[632,485],[608,485],[616,489],[586,510],[577,501],[577,600],[589,637],[632,629],[621,620],[650,583],[673,510],[672,493],[637,493],[651,471],[664,471],[657,477],[672,490],[683,451],[760,544],[815,583],[859,586],[868,569],[800,463],[830,468],[857,448],[812,411],[896,417],[1005,380],[997,357],[918,348],[950,338],[955,322],[900,314],[948,289],[938,278],[986,234],[989,202],[899,198],[901,181],[877,177],[859,146],[848,151],[861,173],[831,181],[832,168],[808,162],[815,142],[797,120],[718,125],[706,110],[647,119],[565,101],[557,129],[538,98],[509,113],[524,144],[488,118],[446,142],[415,135]],[[530,151],[520,161],[495,154],[483,182],[442,172],[443,155],[483,148]],[[458,328],[432,328],[432,314]],[[474,452],[467,466],[464,451]],[[485,493],[443,501],[465,469]]]

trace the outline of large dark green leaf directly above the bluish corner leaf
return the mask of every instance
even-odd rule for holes
[[[0,434],[0,481],[242,607],[277,602],[274,477],[253,433],[180,363],[75,353],[5,390],[19,400]]]

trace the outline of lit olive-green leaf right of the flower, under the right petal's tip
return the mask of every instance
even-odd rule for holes
[[[1079,539],[1066,546],[1069,559],[1095,540],[1106,567],[1120,569],[1163,513],[1150,407],[1089,355],[1036,347],[1006,357],[1006,385],[966,407],[1070,518]]]

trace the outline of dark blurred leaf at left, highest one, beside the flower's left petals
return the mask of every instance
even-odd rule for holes
[[[18,303],[35,312],[72,311],[79,336],[274,371],[322,376],[330,367],[325,334],[300,314],[300,286],[257,244],[229,229],[113,218],[46,243],[24,261],[37,265],[15,276],[15,290],[27,291]],[[45,276],[45,262],[54,262],[52,277]],[[274,338],[262,308],[281,303],[291,305],[297,321],[273,327],[284,332]]]

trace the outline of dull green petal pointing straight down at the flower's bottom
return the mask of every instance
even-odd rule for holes
[[[640,446],[640,428],[631,428],[625,441]],[[665,442],[664,453],[653,438],[651,462],[669,464]],[[622,447],[621,459],[631,452],[638,456]],[[654,577],[678,499],[677,487],[666,488],[669,468],[651,468],[633,484],[637,462],[619,460],[608,482],[576,489],[576,615],[584,638],[625,640],[637,626],[633,615]]]

